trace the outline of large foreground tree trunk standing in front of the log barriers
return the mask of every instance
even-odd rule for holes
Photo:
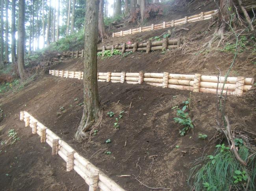
[[[98,11],[99,0],[87,0],[83,65],[83,116],[76,132],[76,139],[79,141],[86,137],[85,132],[100,117],[97,83]]]

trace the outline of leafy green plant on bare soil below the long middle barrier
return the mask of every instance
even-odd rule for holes
[[[178,108],[178,106],[174,106],[172,108],[172,109],[176,109],[176,111],[177,111],[176,115],[178,116],[178,117],[173,118],[174,122],[176,122],[178,124],[182,124],[182,126],[184,126],[182,129],[179,130],[180,136],[184,136],[189,129],[194,128],[194,126],[192,124],[192,120],[189,117],[189,113],[184,112],[187,109],[187,107],[189,106],[189,100],[186,100],[182,103],[185,104],[185,106],[183,106],[182,109]]]

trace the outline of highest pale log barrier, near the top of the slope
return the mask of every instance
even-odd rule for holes
[[[146,27],[139,27],[137,29],[129,29],[127,31],[112,33],[112,37],[132,35],[132,34],[141,33],[145,31],[154,31],[159,29],[165,29],[168,27],[183,25],[191,22],[208,20],[213,18],[213,16],[217,15],[218,13],[219,13],[219,9],[208,11],[208,12],[201,12],[200,14],[193,15],[193,16],[185,16],[185,18],[178,19],[178,20],[172,20],[172,21],[163,22],[160,24],[151,24],[150,26],[146,26]]]

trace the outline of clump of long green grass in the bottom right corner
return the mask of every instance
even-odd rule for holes
[[[247,162],[246,168],[234,157],[229,147],[217,145],[213,155],[199,159],[190,170],[188,183],[194,191],[254,191],[256,178],[256,153],[245,146],[239,155]],[[198,161],[198,160],[197,160]],[[240,178],[241,176],[241,178]]]

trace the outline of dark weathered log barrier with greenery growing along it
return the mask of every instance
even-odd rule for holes
[[[172,49],[172,48],[178,48],[182,44],[182,38],[174,38],[168,40],[167,38],[163,38],[163,40],[159,41],[151,41],[148,40],[147,42],[140,43],[134,42],[133,44],[126,44],[123,42],[121,45],[109,45],[109,46],[102,46],[98,47],[98,52],[102,52],[102,57],[104,57],[104,51],[111,50],[111,55],[113,55],[114,49],[117,49],[124,54],[125,52],[132,51],[146,51],[147,53],[150,53],[151,51],[163,51],[165,49]],[[84,50],[82,51],[65,51],[62,53],[63,56],[70,56],[70,57],[82,57],[84,56]]]

